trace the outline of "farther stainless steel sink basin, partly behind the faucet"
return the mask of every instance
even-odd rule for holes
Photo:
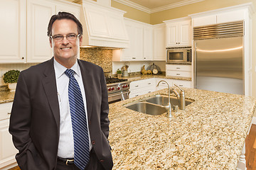
[[[154,103],[157,105],[161,106],[167,106],[168,105],[168,96],[163,96],[163,95],[156,95],[156,96],[151,96],[150,98],[146,98],[146,101],[149,103]],[[171,101],[171,106],[180,106],[178,98],[176,96],[171,96],[170,97]],[[185,105],[188,106],[189,104],[193,103],[193,101],[189,99],[185,99]]]

